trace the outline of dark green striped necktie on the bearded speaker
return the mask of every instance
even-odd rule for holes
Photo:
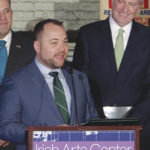
[[[66,103],[66,97],[64,94],[63,86],[58,78],[58,72],[51,72],[50,75],[54,77],[53,89],[57,106],[64,119],[65,124],[69,124],[69,112]]]

